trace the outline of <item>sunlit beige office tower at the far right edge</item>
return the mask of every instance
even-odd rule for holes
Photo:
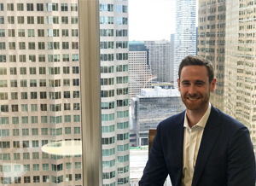
[[[255,16],[255,2],[226,1],[224,112],[249,128],[254,147]]]

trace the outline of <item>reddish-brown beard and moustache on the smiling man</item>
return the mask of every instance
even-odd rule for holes
[[[196,100],[195,102],[190,102],[187,97],[191,99],[200,97],[200,99]],[[209,99],[210,99],[210,91],[204,95],[202,95],[201,93],[197,93],[196,95],[193,95],[193,96],[187,93],[181,96],[181,98],[188,110],[193,110],[193,111],[201,110],[201,108],[207,107],[207,103],[209,102]]]

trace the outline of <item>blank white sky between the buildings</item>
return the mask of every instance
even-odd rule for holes
[[[170,40],[175,33],[175,0],[129,0],[129,40]],[[196,21],[197,22],[197,21]]]

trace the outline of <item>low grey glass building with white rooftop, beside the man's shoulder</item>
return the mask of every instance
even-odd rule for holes
[[[148,145],[149,129],[156,129],[160,121],[181,113],[185,106],[178,90],[159,86],[143,89],[131,99],[131,119],[137,134],[137,146]]]

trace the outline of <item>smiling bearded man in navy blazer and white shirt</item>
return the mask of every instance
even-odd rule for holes
[[[187,56],[178,90],[186,111],[157,127],[140,186],[255,186],[255,158],[247,127],[212,107],[212,62]]]

